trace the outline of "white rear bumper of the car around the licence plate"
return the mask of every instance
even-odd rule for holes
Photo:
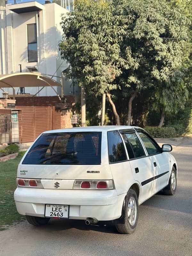
[[[126,194],[116,190],[56,190],[17,188],[14,192],[17,211],[22,215],[44,217],[45,204],[69,205],[69,219],[115,220],[121,216]]]

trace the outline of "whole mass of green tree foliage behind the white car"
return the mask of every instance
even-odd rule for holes
[[[191,63],[185,40],[191,12],[184,2],[190,1],[77,0],[75,11],[61,22],[68,77],[89,97],[107,93],[124,124],[127,113],[131,122],[132,101],[142,95],[149,109],[177,113],[188,97],[185,76]],[[121,99],[125,104],[117,103]]]

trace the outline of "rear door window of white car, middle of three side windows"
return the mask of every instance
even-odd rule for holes
[[[129,159],[145,156],[144,149],[135,133],[122,134]]]

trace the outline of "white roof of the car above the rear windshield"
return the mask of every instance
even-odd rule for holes
[[[106,125],[106,126],[86,126],[86,127],[73,127],[66,129],[57,129],[51,131],[45,131],[43,133],[55,133],[55,132],[102,132],[102,131],[114,131],[121,129],[133,129],[138,128],[137,126],[126,126],[126,125]]]

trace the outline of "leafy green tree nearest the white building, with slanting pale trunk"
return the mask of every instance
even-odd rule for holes
[[[60,52],[71,66],[68,77],[75,78],[85,93],[95,96],[107,93],[116,124],[120,124],[110,94],[117,88],[114,80],[121,73],[117,65],[120,49],[115,36],[117,26],[112,2],[78,0],[74,12],[67,18],[62,17],[61,26]]]

